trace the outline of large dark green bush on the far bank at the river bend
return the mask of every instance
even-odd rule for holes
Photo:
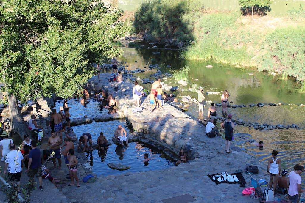
[[[174,43],[194,40],[195,16],[203,6],[193,0],[149,0],[142,2],[135,12],[133,33],[148,34],[159,40]]]

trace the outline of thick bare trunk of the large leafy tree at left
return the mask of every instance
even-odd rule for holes
[[[11,120],[12,133],[17,133],[20,136],[21,140],[23,140],[24,135],[31,136],[32,134],[27,128],[27,124],[23,119],[15,95],[7,94],[7,100],[9,101],[9,118]]]

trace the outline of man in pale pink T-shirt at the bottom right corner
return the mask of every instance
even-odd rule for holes
[[[288,196],[289,203],[296,203],[299,199],[299,194],[305,190],[301,189],[302,178],[300,174],[304,172],[304,167],[296,164],[294,166],[294,171],[291,171],[288,176]]]

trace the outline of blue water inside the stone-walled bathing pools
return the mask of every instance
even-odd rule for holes
[[[102,102],[94,98],[88,99],[89,103],[82,105],[79,99],[69,99],[68,106],[70,109],[71,118],[88,117],[94,118],[95,116],[107,115],[108,110],[104,109]],[[56,101],[56,109],[63,105],[63,100]],[[142,142],[131,142],[129,147],[124,150],[122,147],[115,145],[112,142],[114,131],[118,125],[122,125],[127,134],[129,133],[128,126],[125,119],[118,119],[113,121],[95,122],[91,124],[83,124],[72,126],[74,133],[79,138],[83,133],[88,132],[92,136],[92,140],[97,140],[99,133],[103,132],[108,142],[112,143],[105,152],[93,150],[87,153],[87,162],[90,163],[93,173],[98,176],[119,175],[123,173],[135,173],[139,171],[150,171],[166,169],[174,166],[175,161],[166,156],[163,152],[153,146],[146,145]],[[144,153],[147,153],[149,164],[143,163]],[[113,170],[107,166],[107,163],[121,163],[125,166],[131,166],[130,169],[119,171]]]

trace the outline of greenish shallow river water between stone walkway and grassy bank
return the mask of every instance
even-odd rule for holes
[[[197,98],[197,94],[189,91],[193,83],[202,86],[205,92],[220,92],[227,89],[230,93],[229,100],[233,101],[233,104],[247,105],[247,107],[243,108],[228,108],[228,113],[233,114],[233,119],[241,118],[246,122],[257,121],[262,124],[272,125],[291,125],[294,123],[301,128],[305,127],[305,107],[297,106],[301,103],[305,104],[305,95],[298,92],[298,84],[294,79],[283,80],[281,75],[273,76],[268,73],[257,72],[255,69],[220,64],[213,61],[188,61],[180,59],[180,52],[177,50],[147,49],[146,46],[147,43],[145,43],[144,48],[122,47],[124,55],[120,58],[120,61],[127,62],[126,65],[129,65],[129,70],[142,69],[149,64],[158,64],[162,72],[170,71],[167,65],[170,65],[174,70],[178,70],[185,65],[190,66],[188,86],[179,86],[171,77],[163,79],[166,84],[179,87],[174,92],[179,100],[182,95]],[[152,53],[156,51],[160,52],[160,54],[153,55]],[[212,65],[213,68],[206,68],[206,65]],[[140,78],[148,77],[154,79],[149,76],[156,73],[156,71],[157,69],[152,69],[134,75]],[[249,75],[250,72],[253,75]],[[150,90],[151,84],[140,85]],[[205,100],[212,100],[214,103],[221,102],[221,94],[205,94],[205,97]],[[283,103],[285,105],[271,107],[269,105],[264,107],[248,106],[259,102]],[[199,114],[196,104],[191,104],[185,113],[195,120],[205,119],[209,104],[206,105],[203,115]],[[217,107],[217,115],[221,116],[221,107]],[[217,125],[220,126],[220,122]],[[278,157],[282,159],[282,169],[292,170],[296,163],[305,166],[305,158],[303,156],[305,152],[305,130],[303,129],[258,131],[237,125],[234,138],[233,142],[236,146],[266,163],[266,169],[267,159],[271,157],[271,151],[274,149],[278,150]],[[247,141],[251,140],[264,141],[264,150],[259,151],[257,147],[250,145]]]

